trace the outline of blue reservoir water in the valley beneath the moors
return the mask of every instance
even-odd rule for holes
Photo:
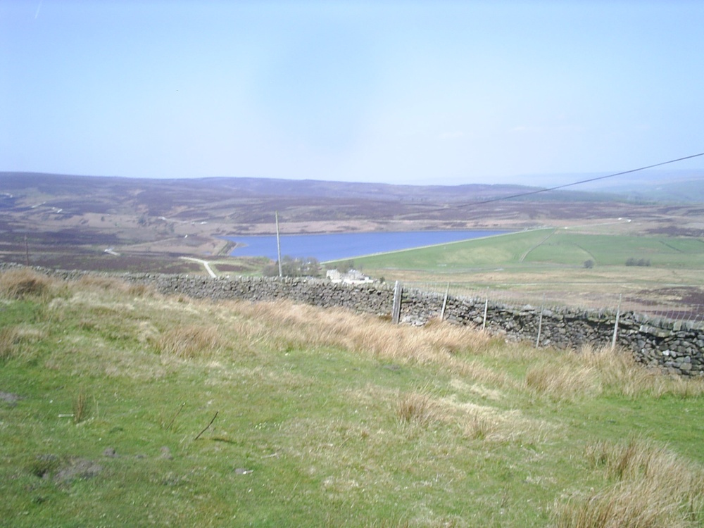
[[[340,260],[411,249],[460,240],[491,237],[508,231],[406,231],[381,233],[284,234],[281,239],[282,256],[294,258],[315,257],[320,262]],[[277,260],[276,235],[226,237],[244,244],[235,248],[234,257],[268,257]]]

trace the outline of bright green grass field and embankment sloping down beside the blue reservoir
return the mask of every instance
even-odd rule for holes
[[[704,269],[704,240],[673,237],[580,234],[570,230],[533,230],[420,249],[356,258],[371,270],[466,272],[508,267],[558,265],[623,266],[629,258],[644,259],[658,268]]]

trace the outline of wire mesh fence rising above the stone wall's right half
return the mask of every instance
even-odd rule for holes
[[[704,322],[704,304],[686,299],[647,296],[637,291],[585,291],[572,284],[476,284],[464,282],[403,282],[403,287],[455,298],[473,298],[511,307],[572,308],[641,313],[673,321]],[[616,288],[614,288],[616,290]]]

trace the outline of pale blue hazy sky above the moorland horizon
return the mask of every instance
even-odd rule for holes
[[[704,152],[703,27],[696,0],[0,0],[0,171],[630,170]]]

